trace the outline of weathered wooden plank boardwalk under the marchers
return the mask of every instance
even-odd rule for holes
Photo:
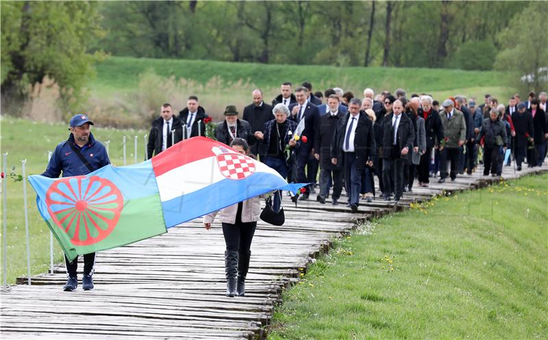
[[[503,178],[548,171],[504,167]],[[2,339],[253,339],[263,338],[285,287],[313,258],[329,250],[360,219],[405,208],[444,192],[484,186],[490,177],[460,175],[455,182],[414,188],[396,206],[376,199],[351,214],[345,204],[299,206],[286,202],[286,223],[262,221],[251,245],[246,296],[227,298],[220,223],[204,230],[201,219],[169,233],[97,255],[95,289],[62,291],[64,265],[54,274],[25,278],[0,294]],[[312,199],[314,198],[314,199]],[[345,199],[341,199],[344,202]],[[79,265],[81,270],[83,264]],[[79,274],[79,279],[82,274]],[[79,285],[81,282],[79,282]]]

